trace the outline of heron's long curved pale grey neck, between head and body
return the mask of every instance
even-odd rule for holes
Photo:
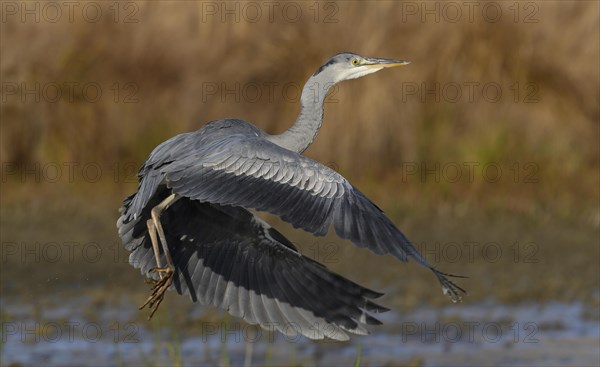
[[[302,153],[315,140],[323,123],[325,96],[333,85],[322,74],[311,76],[304,85],[300,114],[294,125],[282,134],[269,136],[268,140],[297,153]]]

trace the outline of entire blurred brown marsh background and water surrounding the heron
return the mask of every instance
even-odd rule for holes
[[[596,1],[0,3],[2,365],[600,364]],[[287,129],[330,56],[410,60],[334,88],[305,153],[441,270],[268,217],[385,292],[348,343],[286,339],[149,286],[115,222],[160,142],[208,121]]]

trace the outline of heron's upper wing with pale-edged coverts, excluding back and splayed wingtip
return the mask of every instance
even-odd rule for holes
[[[418,253],[384,213],[334,170],[263,137],[234,134],[161,168],[173,192],[267,211],[295,227],[336,233],[406,261]]]

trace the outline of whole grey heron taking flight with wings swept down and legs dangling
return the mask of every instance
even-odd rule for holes
[[[376,254],[431,269],[456,302],[465,291],[429,263],[363,193],[329,167],[302,155],[323,121],[336,83],[407,65],[340,53],[306,82],[293,126],[269,135],[227,118],[177,135],[150,154],[117,227],[131,265],[154,282],[149,318],[167,289],[285,334],[346,340],[380,324],[381,296],[302,255],[254,211],[296,228],[336,234]],[[293,326],[293,327],[291,327]]]

